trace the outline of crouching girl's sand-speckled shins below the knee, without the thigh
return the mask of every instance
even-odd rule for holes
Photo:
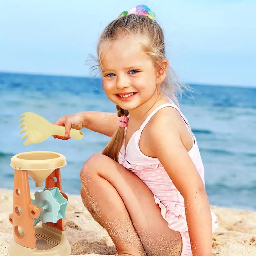
[[[118,255],[146,256],[124,202],[111,183],[98,172],[99,166],[104,168],[104,162],[98,162],[101,161],[98,156],[103,155],[99,153],[90,157],[81,171],[82,201],[94,220],[108,231]]]

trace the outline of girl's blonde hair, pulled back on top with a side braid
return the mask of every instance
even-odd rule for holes
[[[179,82],[178,77],[170,66],[166,70],[163,63],[163,60],[166,59],[164,34],[162,28],[159,26],[156,20],[152,20],[143,15],[129,14],[123,17],[118,17],[110,22],[100,36],[97,46],[97,54],[99,58],[97,60],[98,65],[94,67],[98,67],[100,70],[102,69],[102,66],[100,65],[100,46],[105,43],[115,43],[125,36],[134,36],[135,38],[138,38],[138,36],[141,38],[143,36],[143,38],[148,39],[143,40],[142,42],[145,52],[150,56],[156,69],[161,68],[164,72],[166,72],[166,78],[160,87],[161,91],[164,92],[164,94],[167,94],[167,96],[178,105],[177,96],[182,95],[182,87],[186,88],[186,86]],[[116,109],[118,117],[128,116],[129,114],[128,110],[124,110],[118,105],[116,106]],[[124,128],[118,127],[112,136],[112,139],[103,149],[102,154],[118,162],[118,156],[123,141]]]

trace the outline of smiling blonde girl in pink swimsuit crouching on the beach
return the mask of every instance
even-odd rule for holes
[[[122,12],[97,47],[115,113],[85,111],[55,124],[112,137],[80,173],[81,196],[117,255],[210,256],[217,218],[205,192],[196,138],[174,103],[163,31],[147,6]]]

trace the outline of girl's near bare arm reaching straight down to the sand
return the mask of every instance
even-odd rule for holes
[[[161,111],[161,110],[160,110]],[[165,110],[168,111],[168,110]],[[152,118],[147,138],[185,200],[185,212],[193,256],[212,255],[212,219],[204,183],[184,147],[173,114]]]

